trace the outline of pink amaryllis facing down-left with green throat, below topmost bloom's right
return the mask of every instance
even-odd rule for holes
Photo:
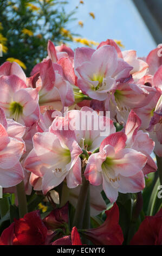
[[[111,111],[111,118],[126,124],[131,109],[147,106],[156,89],[142,84],[118,83],[105,101],[105,109]]]

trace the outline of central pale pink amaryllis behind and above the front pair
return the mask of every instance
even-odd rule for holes
[[[115,132],[111,119],[99,115],[89,107],[69,111],[65,118],[68,118],[71,127],[73,126],[77,143],[82,149],[90,152],[100,147],[103,138]]]

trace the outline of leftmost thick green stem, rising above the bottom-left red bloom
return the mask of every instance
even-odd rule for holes
[[[17,188],[17,198],[18,198],[18,210],[19,210],[19,217],[23,218],[25,214],[28,212],[27,206],[27,198],[25,194],[25,187],[24,181],[22,180],[20,184],[16,186]]]

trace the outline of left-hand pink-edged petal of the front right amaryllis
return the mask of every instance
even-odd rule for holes
[[[94,186],[99,186],[102,183],[101,164],[103,161],[104,159],[100,153],[92,154],[88,159],[84,175],[90,184]]]

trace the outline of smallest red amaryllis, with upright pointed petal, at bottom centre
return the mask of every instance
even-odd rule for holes
[[[82,245],[80,235],[76,227],[73,227],[72,234],[61,237],[53,242],[52,245]]]

